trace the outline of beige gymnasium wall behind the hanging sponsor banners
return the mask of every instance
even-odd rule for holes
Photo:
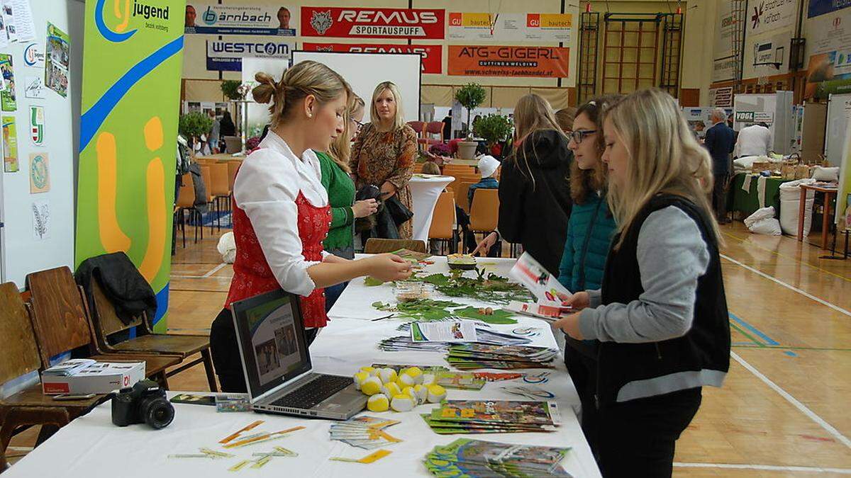
[[[191,2],[190,2],[191,3]],[[286,6],[292,13],[291,24],[296,26],[297,33],[300,33],[300,6],[302,3],[287,3],[281,0],[223,0],[223,4],[233,5],[272,5]],[[700,50],[702,52],[705,43],[705,29],[702,28],[703,10],[707,3],[712,3],[712,0],[694,0],[688,3],[679,3],[683,7],[685,15],[685,31],[683,37],[683,51],[693,52]],[[499,11],[501,13],[559,13],[562,7],[561,0],[527,0],[524,2],[495,2],[491,0],[469,0],[464,3],[452,2],[450,0],[411,0],[410,5],[403,0],[329,0],[328,2],[311,2],[309,5],[317,6],[357,6],[357,7],[384,7],[406,9],[408,6],[414,9],[445,9],[450,11],[461,12],[491,12]],[[488,89],[488,98],[485,102],[486,106],[493,107],[512,107],[517,99],[523,94],[535,92],[543,94],[554,107],[563,107],[568,105],[568,94],[571,94],[569,89],[572,89],[576,82],[576,65],[577,57],[580,54],[579,43],[579,21],[580,12],[585,10],[586,2],[574,2],[572,0],[564,0],[565,13],[574,15],[571,41],[563,46],[570,48],[570,72],[568,78],[563,78],[561,82],[551,78],[507,78],[507,77],[456,77],[446,74],[447,71],[447,48],[443,48],[442,59],[442,74],[423,74],[422,76],[422,102],[434,103],[438,106],[451,105],[454,86],[460,86],[465,83],[476,82],[482,84]],[[690,8],[690,10],[689,10]],[[673,12],[677,9],[676,2],[641,0],[641,1],[620,1],[620,2],[591,2],[591,9],[605,13],[607,10],[611,12]],[[694,18],[689,18],[694,12]],[[601,15],[602,16],[602,15]],[[602,23],[602,19],[601,19]],[[208,71],[206,65],[206,41],[215,39],[211,35],[186,35],[183,77],[184,88],[183,97],[185,100],[191,101],[217,101],[222,100],[218,83],[215,80],[233,79],[239,80],[239,72],[233,71]],[[266,38],[266,37],[263,37]],[[278,37],[280,38],[280,37]],[[239,41],[254,39],[258,37],[240,37],[228,36],[227,39]],[[300,48],[303,42],[333,42],[333,43],[356,43],[353,39],[347,38],[315,38],[315,37],[294,37],[296,48]],[[401,43],[406,44],[406,40],[393,39],[367,39],[363,43]],[[465,41],[456,40],[414,40],[414,44],[471,44]],[[475,43],[472,43],[475,44]],[[498,44],[498,43],[491,43]],[[542,46],[557,46],[557,43],[517,43]],[[708,54],[708,53],[707,53]],[[682,68],[682,88],[708,88],[708,83],[702,82],[700,68],[703,54],[685,54],[683,55]],[[601,59],[602,61],[602,59]],[[711,71],[711,65],[705,68],[706,71]],[[599,70],[599,69],[598,69]],[[213,81],[199,81],[213,80]],[[705,84],[704,84],[705,83]],[[575,101],[575,95],[571,96]]]

